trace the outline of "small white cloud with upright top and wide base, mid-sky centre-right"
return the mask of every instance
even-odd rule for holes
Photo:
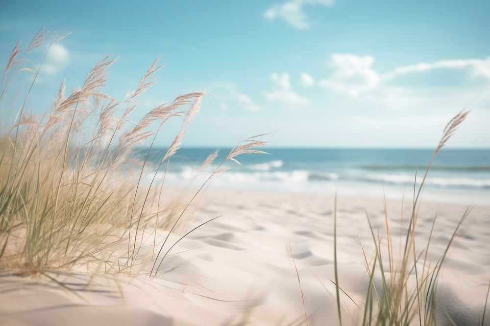
[[[264,92],[265,98],[269,101],[282,102],[289,108],[298,106],[303,107],[310,104],[310,100],[308,98],[300,96],[293,91],[289,73],[273,73],[270,75],[270,80],[272,81],[273,89],[271,91]]]

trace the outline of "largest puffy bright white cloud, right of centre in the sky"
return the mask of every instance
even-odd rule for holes
[[[373,62],[374,58],[369,55],[333,54],[329,65],[334,73],[319,84],[334,92],[357,97],[379,84],[380,76],[371,68]]]

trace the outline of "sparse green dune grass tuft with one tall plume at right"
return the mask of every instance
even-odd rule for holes
[[[408,228],[405,232],[404,245],[400,248],[401,253],[396,254],[396,248],[393,245],[389,214],[384,198],[384,213],[385,213],[385,237],[379,234],[379,230],[375,230],[371,224],[368,212],[369,229],[374,246],[374,258],[371,263],[368,262],[367,253],[361,242],[362,254],[366,271],[368,273],[369,282],[366,291],[366,299],[361,305],[362,325],[439,325],[438,323],[438,297],[437,288],[438,280],[442,265],[448,254],[448,251],[456,237],[459,235],[462,223],[471,211],[471,207],[466,209],[457,225],[455,225],[445,250],[441,253],[435,265],[431,264],[428,257],[429,247],[431,244],[436,217],[432,221],[432,227],[428,235],[426,243],[416,241],[416,229],[418,212],[425,185],[427,175],[429,174],[432,163],[437,154],[444,147],[449,138],[453,135],[458,126],[466,119],[468,112],[460,112],[446,125],[441,141],[430,160],[428,167],[423,175],[420,186],[417,189],[414,183],[413,201],[410,208],[410,218]],[[417,179],[417,177],[416,177]],[[403,206],[403,203],[402,203]],[[335,207],[336,211],[336,207]],[[402,207],[403,212],[403,207]],[[403,216],[401,217],[403,220]],[[401,223],[401,222],[400,222]],[[339,321],[342,324],[342,312],[340,291],[341,284],[337,273],[337,218],[334,217],[334,269],[335,269],[335,288],[337,293],[337,307]],[[400,231],[401,231],[400,224]],[[400,236],[402,237],[402,236]],[[385,268],[388,266],[388,270]],[[379,281],[380,286],[375,286],[375,280]],[[415,281],[415,282],[414,282]],[[347,295],[348,296],[348,295]],[[352,300],[349,297],[350,300]],[[488,300],[488,295],[486,300]],[[357,305],[357,304],[356,304]],[[486,310],[483,311],[482,325],[484,325]],[[350,312],[348,312],[351,314]],[[446,316],[450,318],[450,316]]]

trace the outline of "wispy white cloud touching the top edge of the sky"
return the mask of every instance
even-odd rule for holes
[[[274,4],[265,12],[265,16],[270,20],[279,17],[295,28],[308,29],[310,24],[306,21],[303,6],[316,4],[331,6],[333,3],[334,0],[288,0],[284,3]]]

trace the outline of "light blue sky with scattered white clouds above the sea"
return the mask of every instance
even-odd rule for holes
[[[490,1],[0,1],[2,67],[42,26],[72,33],[48,53],[29,97],[34,112],[63,78],[68,90],[81,86],[109,53],[119,60],[103,90],[122,98],[163,54],[158,84],[132,119],[207,91],[184,146],[270,133],[273,147],[432,148],[466,108],[448,146],[490,147]]]

